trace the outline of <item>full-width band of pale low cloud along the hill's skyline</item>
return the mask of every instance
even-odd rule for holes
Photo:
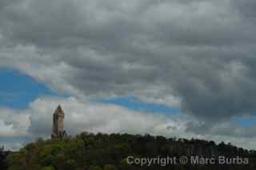
[[[225,122],[218,126],[214,125],[205,132],[202,122],[198,122],[193,117],[140,113],[117,105],[79,101],[74,97],[39,97],[22,113],[6,109],[4,113],[10,116],[0,119],[1,144],[6,148],[17,150],[17,146],[21,147],[38,137],[50,138],[52,116],[58,104],[62,105],[65,112],[65,130],[72,136],[85,131],[115,132],[187,139],[193,137],[216,142],[224,140],[244,148],[255,146],[255,142],[252,142],[255,138],[254,128],[248,131],[247,128]],[[10,121],[10,117],[14,121]]]

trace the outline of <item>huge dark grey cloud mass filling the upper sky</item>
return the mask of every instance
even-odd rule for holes
[[[53,89],[175,96],[182,113],[209,122],[255,115],[253,1],[6,3],[0,65],[15,60]]]

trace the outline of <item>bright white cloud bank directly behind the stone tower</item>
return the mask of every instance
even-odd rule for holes
[[[33,136],[49,136],[52,114],[60,103],[66,113],[66,131],[72,135],[78,132],[130,132],[133,134],[172,133],[167,127],[182,125],[161,114],[139,113],[117,105],[104,105],[89,101],[69,98],[38,98],[30,105],[30,122],[28,128]]]

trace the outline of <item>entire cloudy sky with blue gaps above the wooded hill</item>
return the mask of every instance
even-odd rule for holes
[[[66,131],[256,149],[254,0],[2,0],[0,145]]]

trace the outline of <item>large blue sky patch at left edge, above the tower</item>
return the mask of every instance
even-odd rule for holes
[[[0,106],[25,109],[36,98],[56,96],[46,85],[12,69],[0,69]]]

